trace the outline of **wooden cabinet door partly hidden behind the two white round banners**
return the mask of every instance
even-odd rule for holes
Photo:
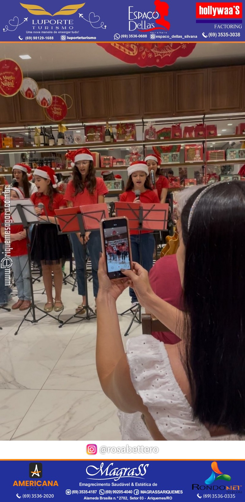
[[[40,89],[46,88],[45,82],[37,82]],[[36,124],[39,126],[47,121],[44,108],[40,106],[36,99],[27,99],[20,92],[17,94],[17,111],[20,124],[29,126]]]

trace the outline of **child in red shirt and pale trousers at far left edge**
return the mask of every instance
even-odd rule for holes
[[[18,188],[10,191],[11,200],[24,199],[24,195]],[[4,225],[5,215],[1,214],[1,223]],[[11,220],[12,222],[12,220]],[[11,259],[14,272],[15,284],[18,292],[18,301],[12,306],[12,310],[27,310],[31,307],[31,285],[29,264],[27,256],[27,234],[23,225],[11,225]],[[5,237],[5,228],[1,227],[1,235]]]

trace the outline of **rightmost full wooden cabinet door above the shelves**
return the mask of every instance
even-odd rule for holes
[[[239,111],[242,95],[242,66],[208,69],[208,111]]]

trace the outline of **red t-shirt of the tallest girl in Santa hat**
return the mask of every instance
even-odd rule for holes
[[[75,195],[73,181],[69,181],[64,199],[73,202],[74,207],[88,206],[89,204],[98,204],[99,195],[106,195],[108,193],[107,187],[102,178],[96,178],[96,187],[94,193],[91,195],[86,186],[83,192]]]

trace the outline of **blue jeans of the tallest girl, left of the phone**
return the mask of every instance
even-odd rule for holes
[[[84,268],[86,264],[84,263],[83,246],[75,233],[71,233],[71,240],[72,240],[74,258],[76,262],[78,294],[85,296]],[[89,251],[89,256],[92,265],[94,297],[97,298],[99,289],[98,266],[99,266],[100,252],[102,251],[99,230],[94,230],[93,232],[91,232],[89,240],[87,242],[87,248]]]

